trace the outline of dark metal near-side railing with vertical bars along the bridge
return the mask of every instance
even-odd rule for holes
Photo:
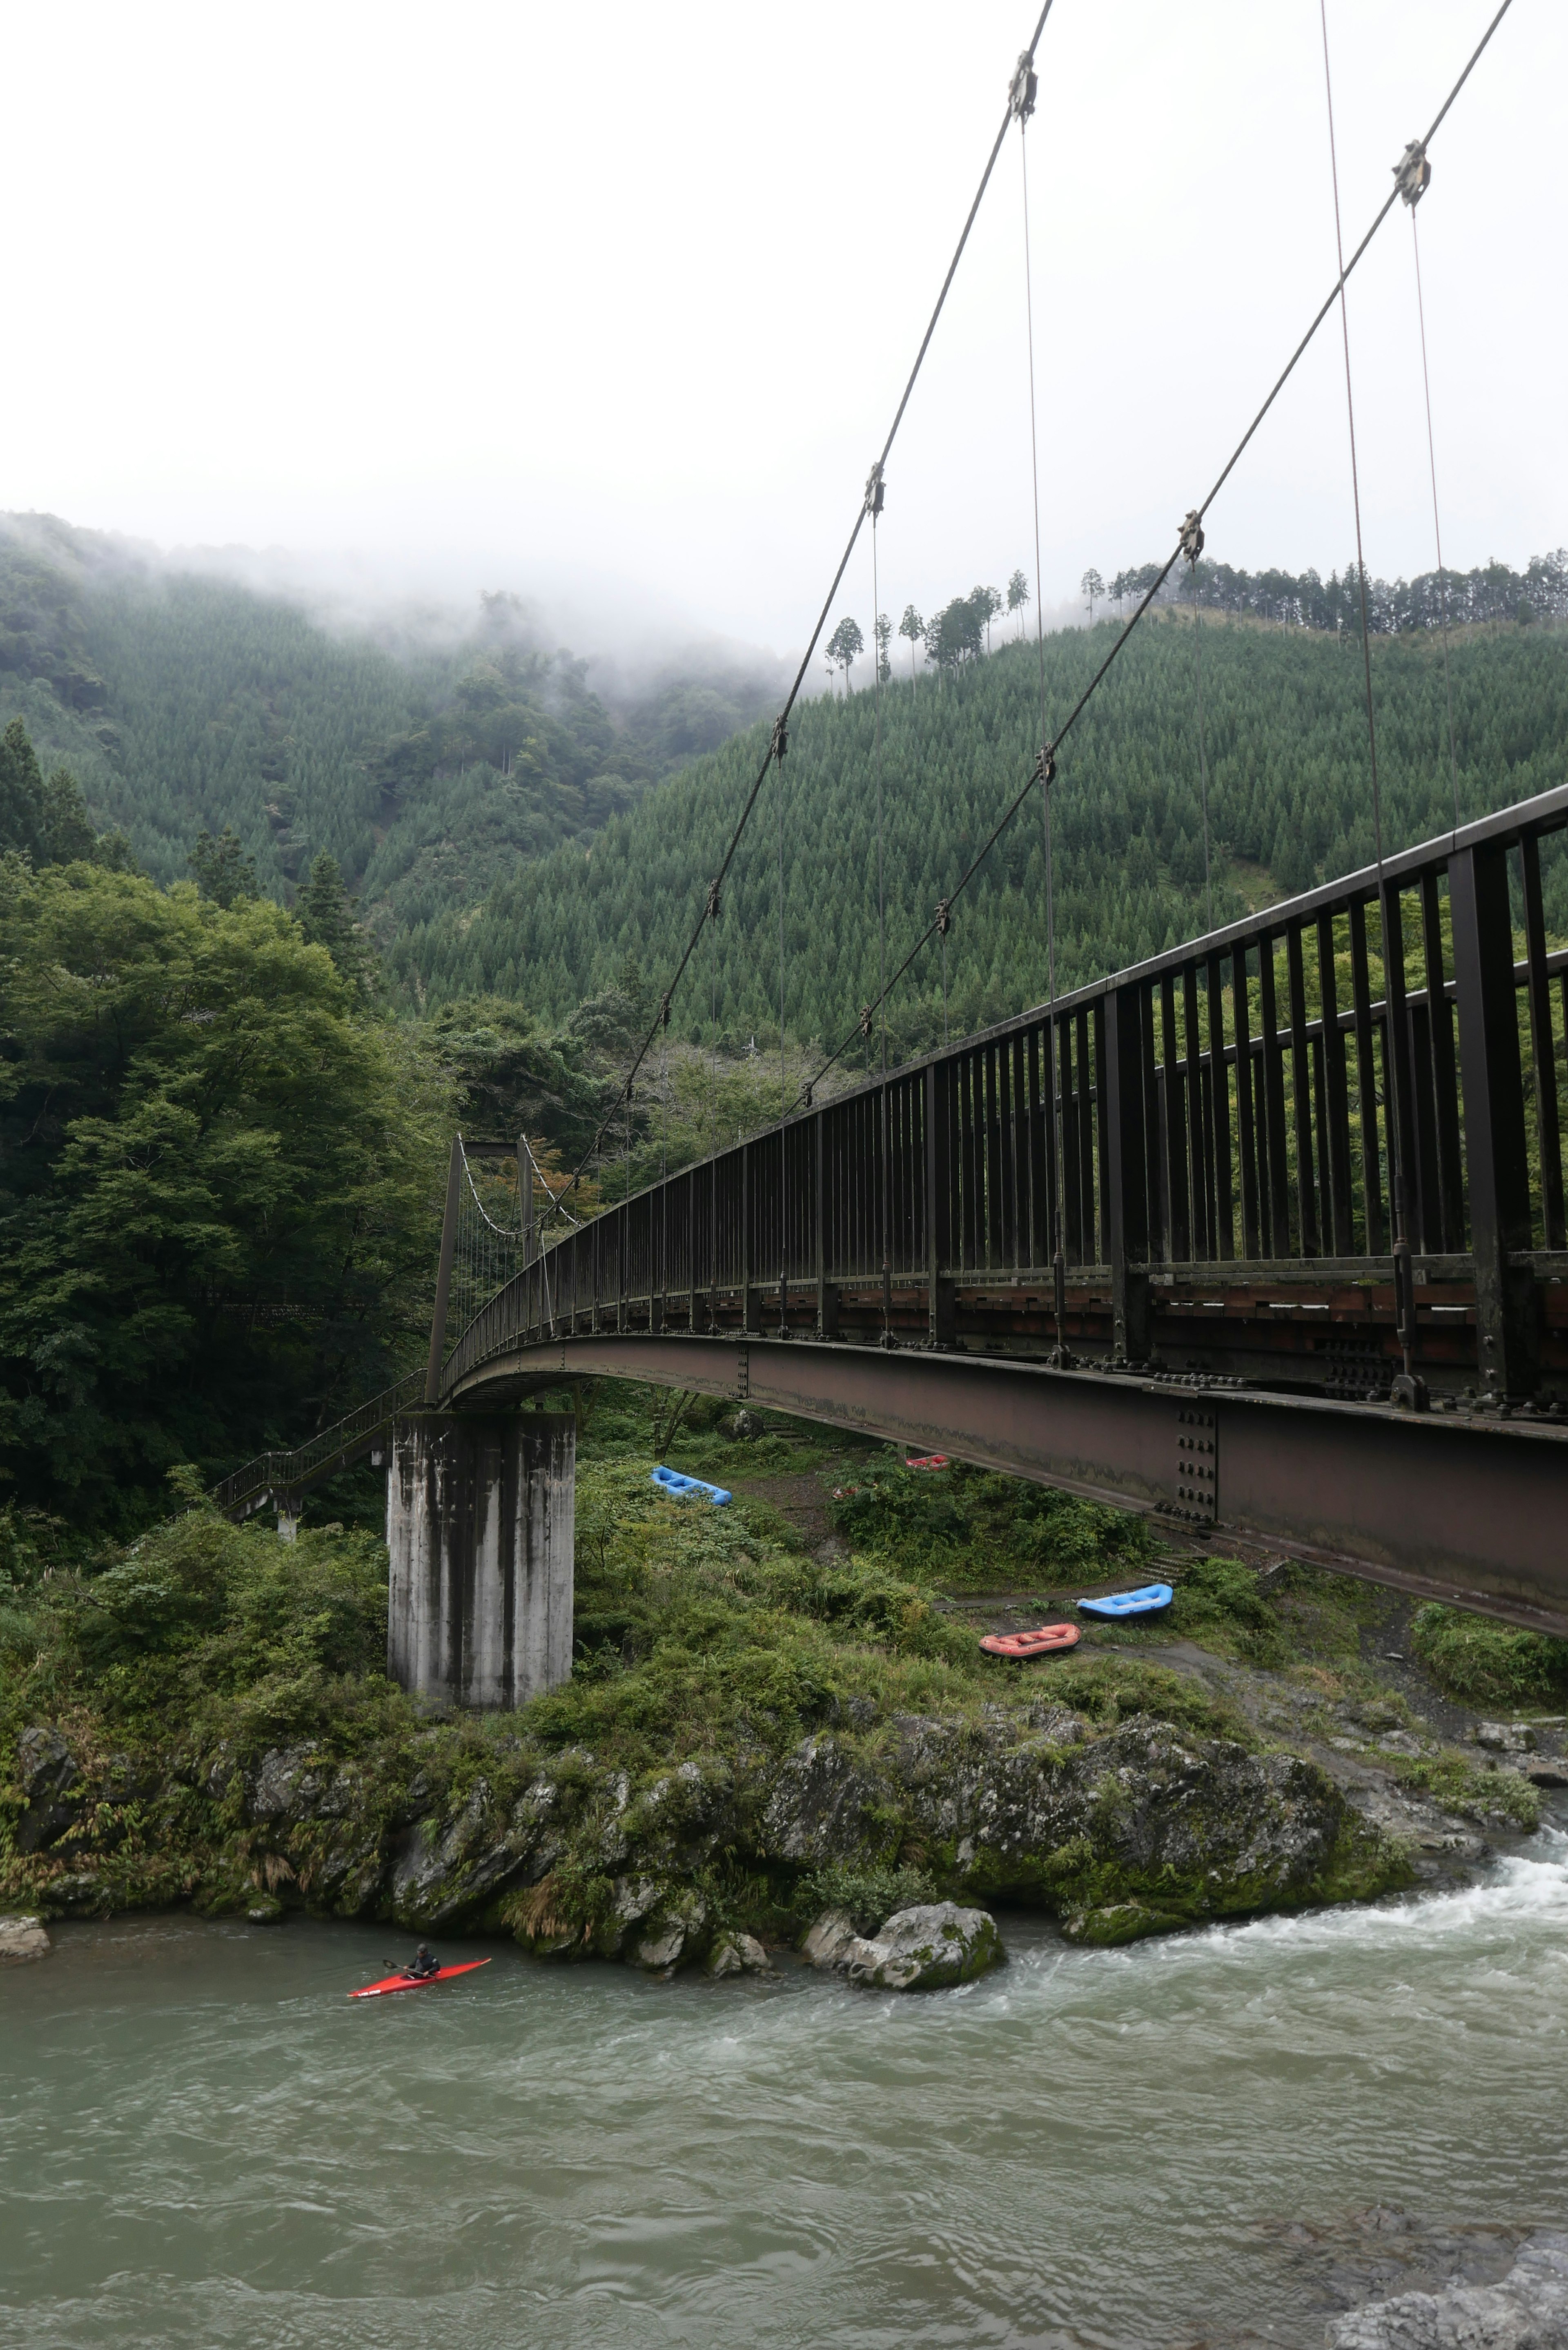
[[[1528,1394],[1537,1260],[1566,1248],[1566,827],[1559,787],[684,1168],[545,1246],[442,1386],[607,1318],[717,1328],[736,1297],[741,1328],[832,1335],[856,1285],[919,1285],[943,1344],[954,1285],[1048,1278],[1058,1191],[1135,1361],[1159,1269],[1387,1278],[1399,1161],[1410,1248],[1474,1278],[1481,1368]]]

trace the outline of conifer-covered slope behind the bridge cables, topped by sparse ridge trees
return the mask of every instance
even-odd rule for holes
[[[1114,623],[1046,644],[1046,724],[1060,721]],[[1058,980],[1117,968],[1204,928],[1194,627],[1159,613],[1128,644],[1072,733],[1056,787]],[[1201,623],[1215,921],[1371,862],[1373,806],[1361,649],[1352,637],[1255,620]],[[1453,820],[1441,639],[1373,644],[1385,846]],[[1500,623],[1453,637],[1465,815],[1568,780],[1568,632]],[[1039,743],[1034,646],[877,696],[797,712],[783,780],[769,778],[724,909],[675,1006],[677,1029],[743,1043],[778,1032],[778,827],[785,851],[785,1025],[837,1041],[877,989],[877,766],[889,964],[924,931],[1027,776]],[[635,959],[658,989],[703,907],[766,731],[696,761],[583,848],[498,886],[473,919],[409,931],[390,973],[409,999],[522,994],[564,1018]],[[1568,931],[1552,865],[1549,919]],[[947,1018],[959,1034],[1046,992],[1039,799],[1016,818],[954,912]],[[943,964],[926,949],[893,1006],[905,1046],[940,1036]]]

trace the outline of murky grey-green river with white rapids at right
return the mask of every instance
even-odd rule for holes
[[[1001,1922],[903,2000],[494,1943],[350,2002],[400,1936],[56,1927],[0,1976],[0,2343],[1305,2350],[1368,2204],[1568,2218],[1559,1828],[1121,1953]]]

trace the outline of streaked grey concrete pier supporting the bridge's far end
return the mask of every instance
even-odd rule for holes
[[[576,1419],[418,1412],[393,1429],[388,1676],[510,1708],[571,1673]]]

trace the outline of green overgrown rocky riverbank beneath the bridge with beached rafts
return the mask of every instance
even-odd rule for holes
[[[1124,1943],[1450,1882],[1535,1826],[1561,1725],[1533,1704],[1533,1744],[1476,1746],[1387,1593],[1157,1556],[1140,1520],[752,1415],[670,1441],[654,1410],[621,1389],[585,1426],[574,1678],[517,1716],[388,1687],[353,1525],[289,1549],[195,1506],[99,1572],[14,1577],[0,1908],[306,1911],[670,1974],[936,1899]],[[736,1504],[663,1499],[665,1450]],[[1157,1629],[980,1657],[1154,1565]]]

